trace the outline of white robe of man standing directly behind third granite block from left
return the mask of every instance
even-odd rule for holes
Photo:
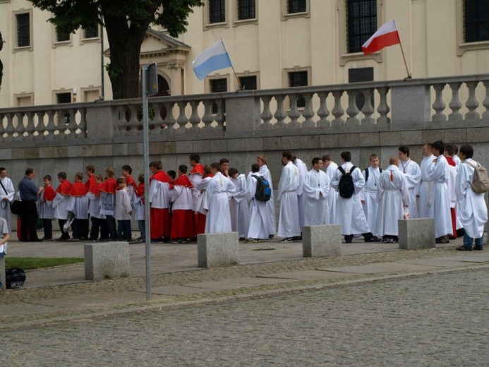
[[[306,174],[303,186],[306,195],[304,225],[318,226],[329,222],[330,210],[327,207],[327,195],[330,193],[330,180],[325,172],[311,169]]]

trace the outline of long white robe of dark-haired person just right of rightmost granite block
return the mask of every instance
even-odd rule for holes
[[[430,177],[433,180],[433,205],[435,210],[435,237],[452,234],[452,215],[448,200],[448,162],[443,155],[431,163]]]

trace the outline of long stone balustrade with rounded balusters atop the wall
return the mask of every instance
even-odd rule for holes
[[[142,136],[140,100],[0,109],[1,140]],[[489,123],[489,74],[150,98],[150,138],[191,140]]]

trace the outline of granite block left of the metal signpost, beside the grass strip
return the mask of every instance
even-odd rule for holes
[[[107,277],[129,275],[129,243],[87,243],[85,254],[85,279],[99,280]]]

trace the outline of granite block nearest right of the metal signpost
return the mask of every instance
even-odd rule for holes
[[[238,232],[197,235],[198,267],[221,267],[239,263]]]

